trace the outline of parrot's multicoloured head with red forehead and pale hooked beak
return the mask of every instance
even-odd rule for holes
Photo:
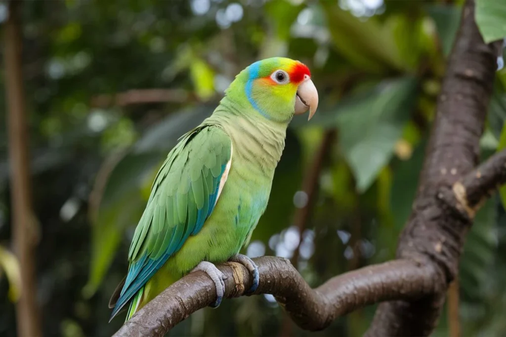
[[[274,57],[257,61],[237,75],[229,90],[241,96],[267,119],[289,122],[294,114],[309,110],[309,119],[318,107],[318,91],[311,72],[303,63]],[[228,92],[227,92],[228,94]]]

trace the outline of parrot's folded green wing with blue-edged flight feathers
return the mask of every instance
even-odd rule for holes
[[[112,312],[114,317],[156,271],[195,235],[213,212],[228,177],[232,141],[218,126],[200,126],[182,136],[168,154],[130,246],[130,268]]]

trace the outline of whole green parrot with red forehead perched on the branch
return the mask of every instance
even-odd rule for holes
[[[109,307],[126,320],[185,274],[201,270],[216,285],[215,264],[235,261],[259,284],[255,263],[239,254],[264,213],[274,170],[294,114],[318,106],[307,66],[287,58],[255,62],[225,90],[213,114],[181,136],[159,169],[129,251],[129,270]]]

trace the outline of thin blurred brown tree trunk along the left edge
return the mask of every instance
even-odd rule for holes
[[[21,297],[17,303],[19,336],[39,336],[40,323],[36,304],[34,228],[28,168],[28,133],[21,59],[21,1],[9,2],[9,18],[5,24],[5,72],[7,116],[9,128],[9,161],[11,163],[11,195],[13,242],[21,268]]]

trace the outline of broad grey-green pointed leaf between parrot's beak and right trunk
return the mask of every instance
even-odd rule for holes
[[[372,184],[392,158],[395,143],[411,116],[416,83],[412,77],[383,81],[315,116],[314,123],[339,127],[339,143],[359,192]]]

